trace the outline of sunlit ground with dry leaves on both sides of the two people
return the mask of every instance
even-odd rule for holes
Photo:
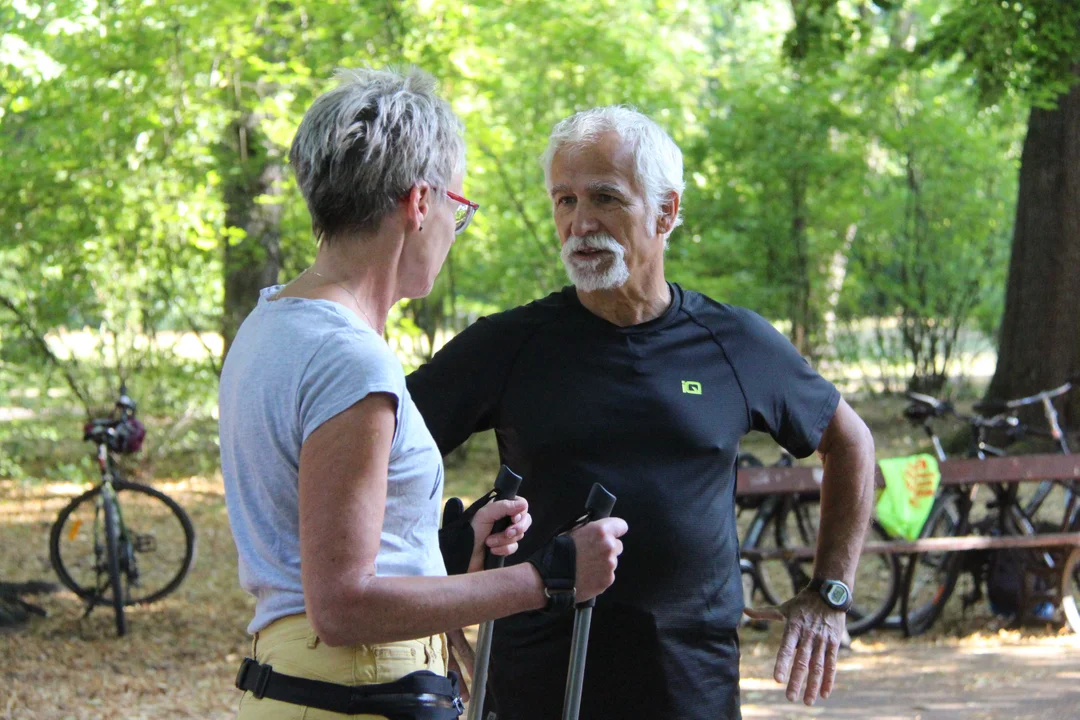
[[[68,593],[37,598],[49,617],[0,634],[0,720],[233,716],[232,679],[247,648],[252,602],[237,584],[220,480],[154,485],[195,525],[191,574],[173,596],[132,609],[122,639],[106,609],[83,617]],[[0,480],[0,578],[53,578],[49,527],[79,491]],[[1077,636],[993,628],[993,619],[975,615],[945,628],[959,637],[905,642],[879,633],[856,641],[842,657],[833,698],[813,708],[786,703],[770,679],[778,630],[746,630],[744,717],[1080,718]]]

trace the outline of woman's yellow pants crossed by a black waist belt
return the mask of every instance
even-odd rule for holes
[[[433,635],[418,640],[374,646],[330,648],[319,639],[307,615],[289,615],[255,634],[252,655],[275,673],[342,685],[365,685],[400,680],[409,673],[431,670],[446,675],[446,638]],[[251,692],[240,698],[239,720],[386,720],[381,715],[341,715],[281,703]]]

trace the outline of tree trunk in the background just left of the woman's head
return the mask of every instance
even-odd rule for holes
[[[281,270],[280,195],[285,168],[280,158],[270,157],[267,148],[254,138],[255,125],[247,116],[232,128],[240,162],[226,175],[225,221],[227,227],[239,228],[245,234],[239,242],[225,243],[222,357],[229,352],[240,324],[255,308],[259,289],[276,283]]]

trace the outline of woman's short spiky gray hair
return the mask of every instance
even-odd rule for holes
[[[372,232],[418,182],[443,198],[464,172],[461,121],[416,68],[339,70],[303,116],[288,160],[321,242]]]

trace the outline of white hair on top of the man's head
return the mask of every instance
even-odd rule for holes
[[[645,190],[649,208],[656,213],[667,199],[676,193],[681,199],[686,182],[683,180],[683,151],[660,125],[634,108],[609,105],[582,110],[561,121],[548,138],[548,149],[540,157],[544,182],[551,187],[551,164],[555,153],[565,147],[589,145],[604,133],[615,131],[631,144],[634,153],[636,180]],[[681,204],[675,218],[676,228],[683,223]]]

